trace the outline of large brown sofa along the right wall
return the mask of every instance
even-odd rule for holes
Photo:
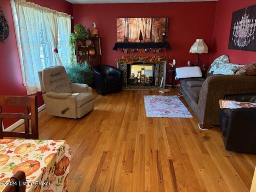
[[[220,124],[219,100],[226,94],[256,93],[256,76],[213,75],[209,69],[201,78],[180,80],[180,92],[204,127]]]

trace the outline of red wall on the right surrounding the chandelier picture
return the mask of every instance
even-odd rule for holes
[[[254,4],[256,4],[255,0],[219,0],[217,2],[211,60],[226,54],[232,63],[248,64],[256,61],[256,52],[228,49],[232,12]]]

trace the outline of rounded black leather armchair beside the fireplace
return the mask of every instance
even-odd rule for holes
[[[97,65],[92,68],[96,91],[101,94],[119,92],[123,88],[122,70],[109,65]]]

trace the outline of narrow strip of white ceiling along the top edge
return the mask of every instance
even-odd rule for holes
[[[72,4],[95,4],[95,3],[166,3],[166,2],[196,2],[218,0],[66,0]]]

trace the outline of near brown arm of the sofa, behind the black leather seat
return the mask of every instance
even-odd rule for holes
[[[204,124],[219,125],[219,100],[226,94],[255,93],[256,76],[216,75],[206,78],[199,94],[198,119]]]

